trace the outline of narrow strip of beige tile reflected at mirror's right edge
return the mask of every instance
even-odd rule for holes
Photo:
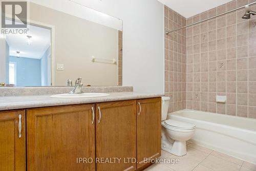
[[[123,84],[123,32],[118,31],[118,86]]]

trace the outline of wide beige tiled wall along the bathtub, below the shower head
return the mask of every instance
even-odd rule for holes
[[[253,1],[231,1],[188,18],[187,25]],[[243,14],[187,28],[187,109],[256,118],[256,16]],[[227,103],[216,103],[216,95],[226,95]]]

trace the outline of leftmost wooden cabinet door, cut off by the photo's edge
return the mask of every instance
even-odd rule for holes
[[[0,112],[0,170],[26,170],[25,110]]]

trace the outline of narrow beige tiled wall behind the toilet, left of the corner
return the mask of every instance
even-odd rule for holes
[[[165,30],[186,25],[186,18],[164,7]],[[179,30],[164,38],[165,96],[170,97],[169,112],[186,108],[186,30]]]

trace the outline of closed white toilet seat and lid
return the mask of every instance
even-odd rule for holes
[[[196,125],[187,122],[181,122],[173,119],[168,119],[164,121],[164,124],[169,129],[177,129],[177,130],[194,130]]]

